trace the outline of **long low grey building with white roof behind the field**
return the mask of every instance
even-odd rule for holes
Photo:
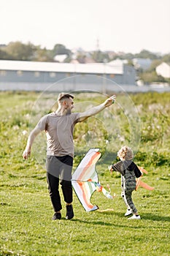
[[[113,63],[72,64],[0,60],[0,91],[114,91],[114,85],[134,86],[134,67]]]

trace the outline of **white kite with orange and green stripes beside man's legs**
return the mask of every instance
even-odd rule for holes
[[[72,175],[72,187],[85,211],[95,211],[98,209],[98,206],[93,206],[90,202],[90,198],[95,191],[103,192],[107,198],[113,198],[110,195],[110,189],[108,192],[98,182],[96,162],[100,157],[99,148],[90,148]]]

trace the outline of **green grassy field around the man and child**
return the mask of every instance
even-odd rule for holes
[[[100,147],[99,180],[117,196],[109,200],[95,192],[91,201],[99,209],[87,213],[74,194],[72,220],[65,219],[62,197],[60,221],[51,220],[44,134],[35,141],[31,157],[22,158],[28,132],[50,111],[54,95],[1,92],[0,99],[0,255],[169,255],[169,93],[118,94],[109,110],[77,124],[74,169],[90,147]],[[77,94],[75,111],[104,99],[97,93]],[[124,217],[120,176],[107,170],[124,144],[134,148],[136,164],[148,171],[143,181],[155,187],[133,194],[140,220]]]

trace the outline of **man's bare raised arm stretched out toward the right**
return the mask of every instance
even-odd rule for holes
[[[79,117],[78,121],[81,122],[81,121],[84,121],[85,119],[87,119],[90,116],[96,115],[97,113],[104,110],[104,108],[107,108],[110,105],[112,105],[113,103],[115,103],[115,99],[116,99],[116,96],[112,95],[107,100],[105,100],[105,102],[103,102],[101,105],[98,105],[97,107],[91,108],[90,110],[87,110],[83,113],[80,113],[80,117]]]

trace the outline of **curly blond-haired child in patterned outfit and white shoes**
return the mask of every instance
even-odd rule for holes
[[[133,214],[132,217],[128,219],[140,219],[136,207],[132,201],[132,192],[136,188],[136,178],[142,176],[141,171],[137,165],[132,161],[134,154],[131,148],[128,146],[123,146],[117,152],[117,156],[120,158],[120,162],[109,166],[109,171],[117,171],[121,173],[121,184],[122,184],[122,194],[125,205],[127,206],[127,211],[125,216]]]

